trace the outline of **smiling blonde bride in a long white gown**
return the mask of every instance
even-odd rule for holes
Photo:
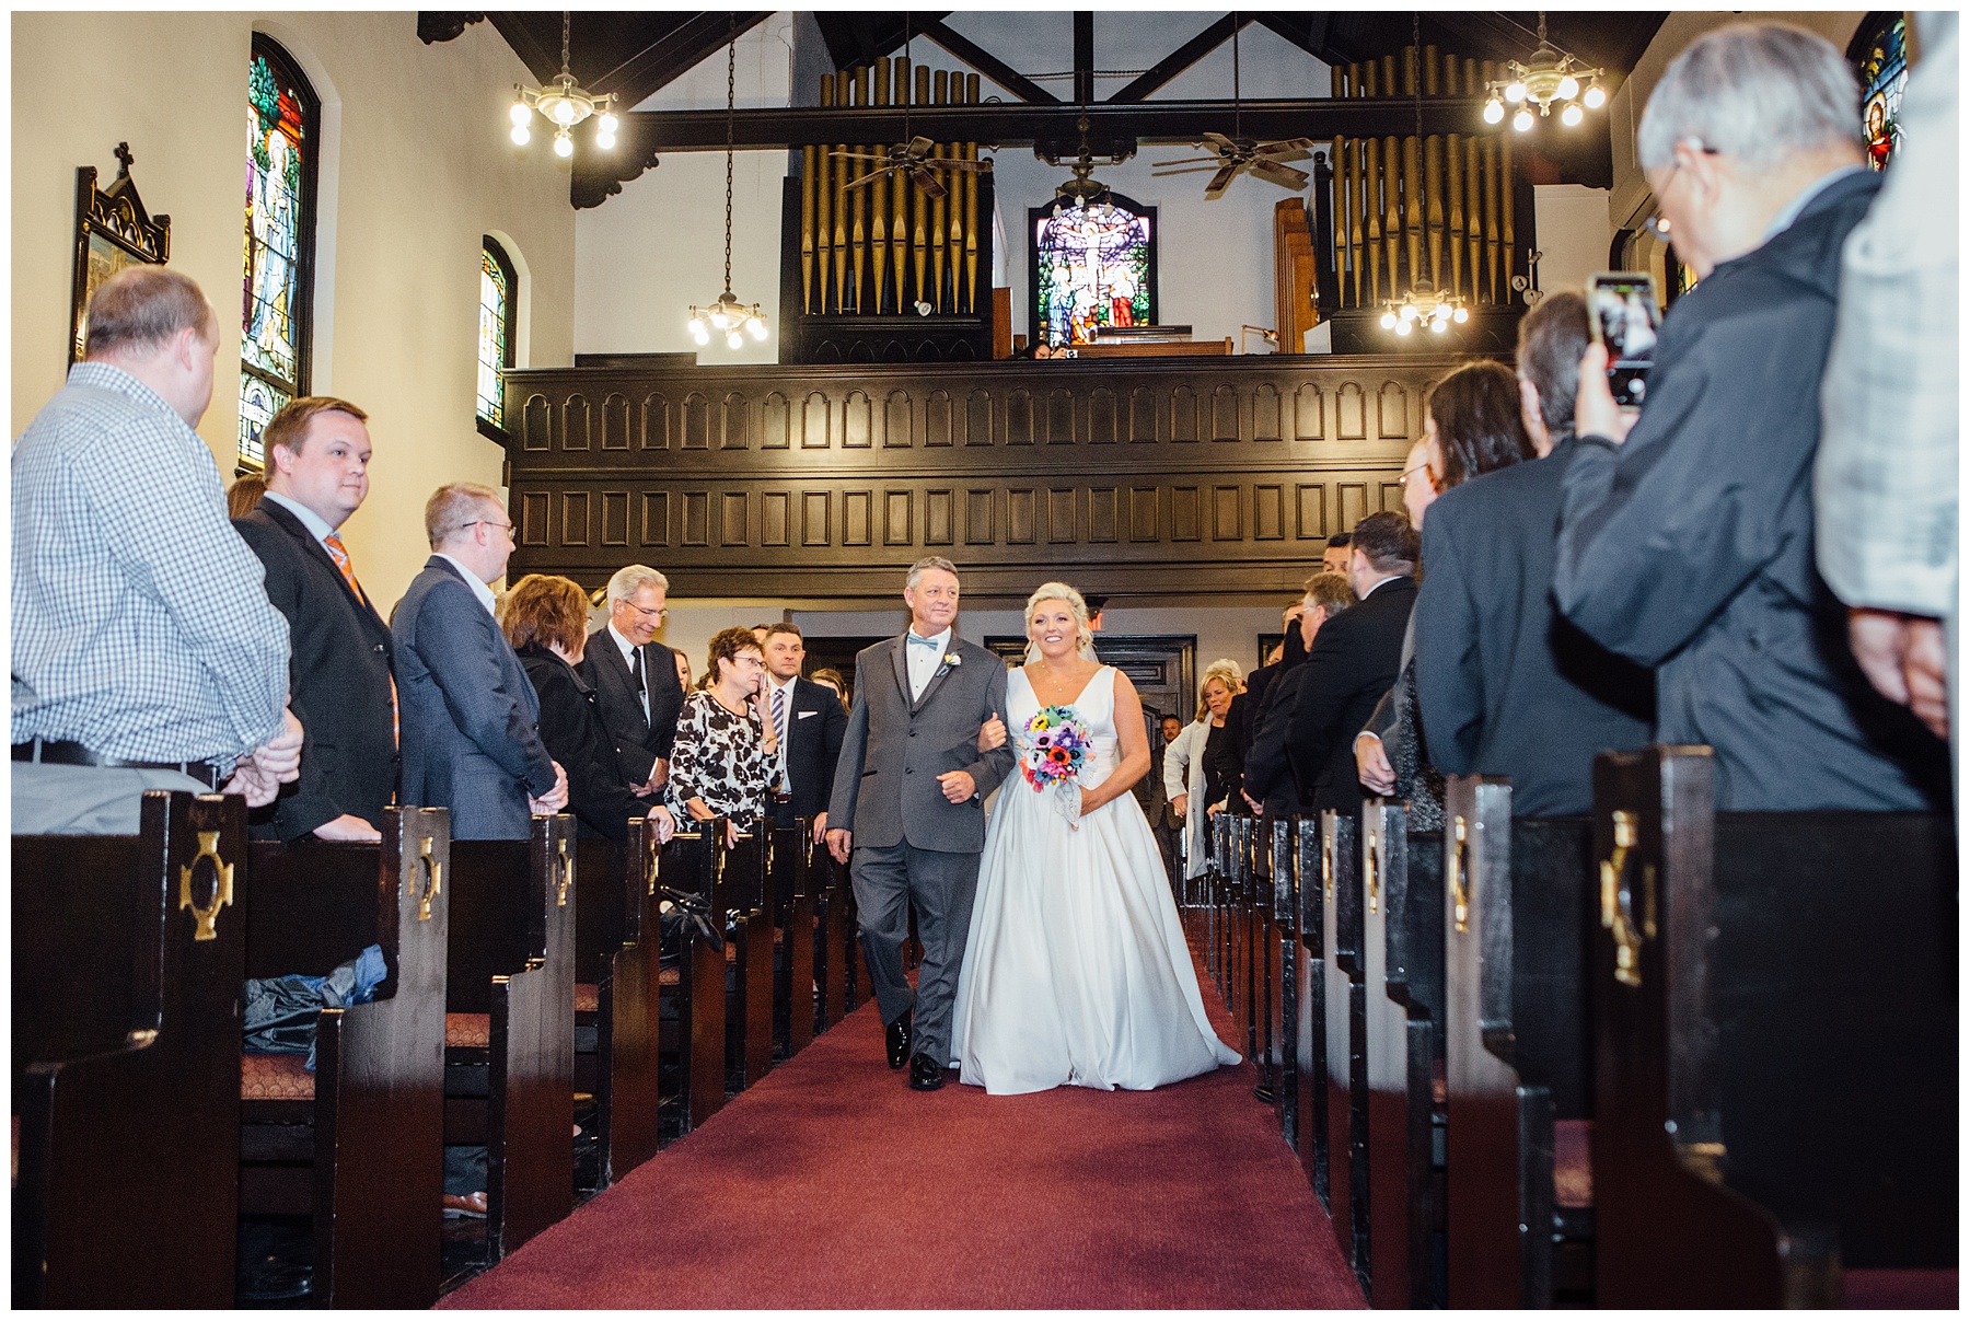
[[[1026,638],[1003,723],[1020,766],[1034,752],[1028,723],[1046,707],[1072,707],[1091,746],[1074,782],[1042,789],[1020,774],[999,789],[957,975],[959,1081],[993,1095],[1062,1083],[1147,1091],[1233,1065],[1129,793],[1149,770],[1135,685],[1093,660],[1087,606],[1064,583],[1026,602]],[[995,746],[1001,723],[985,738]]]

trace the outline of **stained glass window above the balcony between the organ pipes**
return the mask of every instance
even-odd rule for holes
[[[1097,327],[1154,325],[1154,209],[1111,193],[1030,215],[1034,343],[1085,345]]]

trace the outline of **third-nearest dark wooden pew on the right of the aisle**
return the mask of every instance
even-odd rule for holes
[[[1367,986],[1369,1303],[1440,1307],[1444,1069],[1442,835],[1393,799],[1361,809]]]

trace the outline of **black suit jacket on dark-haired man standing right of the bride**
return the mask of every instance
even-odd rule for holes
[[[1288,736],[1292,770],[1302,786],[1312,786],[1314,811],[1361,807],[1353,736],[1401,673],[1403,630],[1414,604],[1416,583],[1389,579],[1314,636],[1314,650],[1300,665],[1306,673]]]

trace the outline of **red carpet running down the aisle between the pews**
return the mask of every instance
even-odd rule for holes
[[[1361,1307],[1253,1081],[920,1095],[871,1002],[439,1305]]]

